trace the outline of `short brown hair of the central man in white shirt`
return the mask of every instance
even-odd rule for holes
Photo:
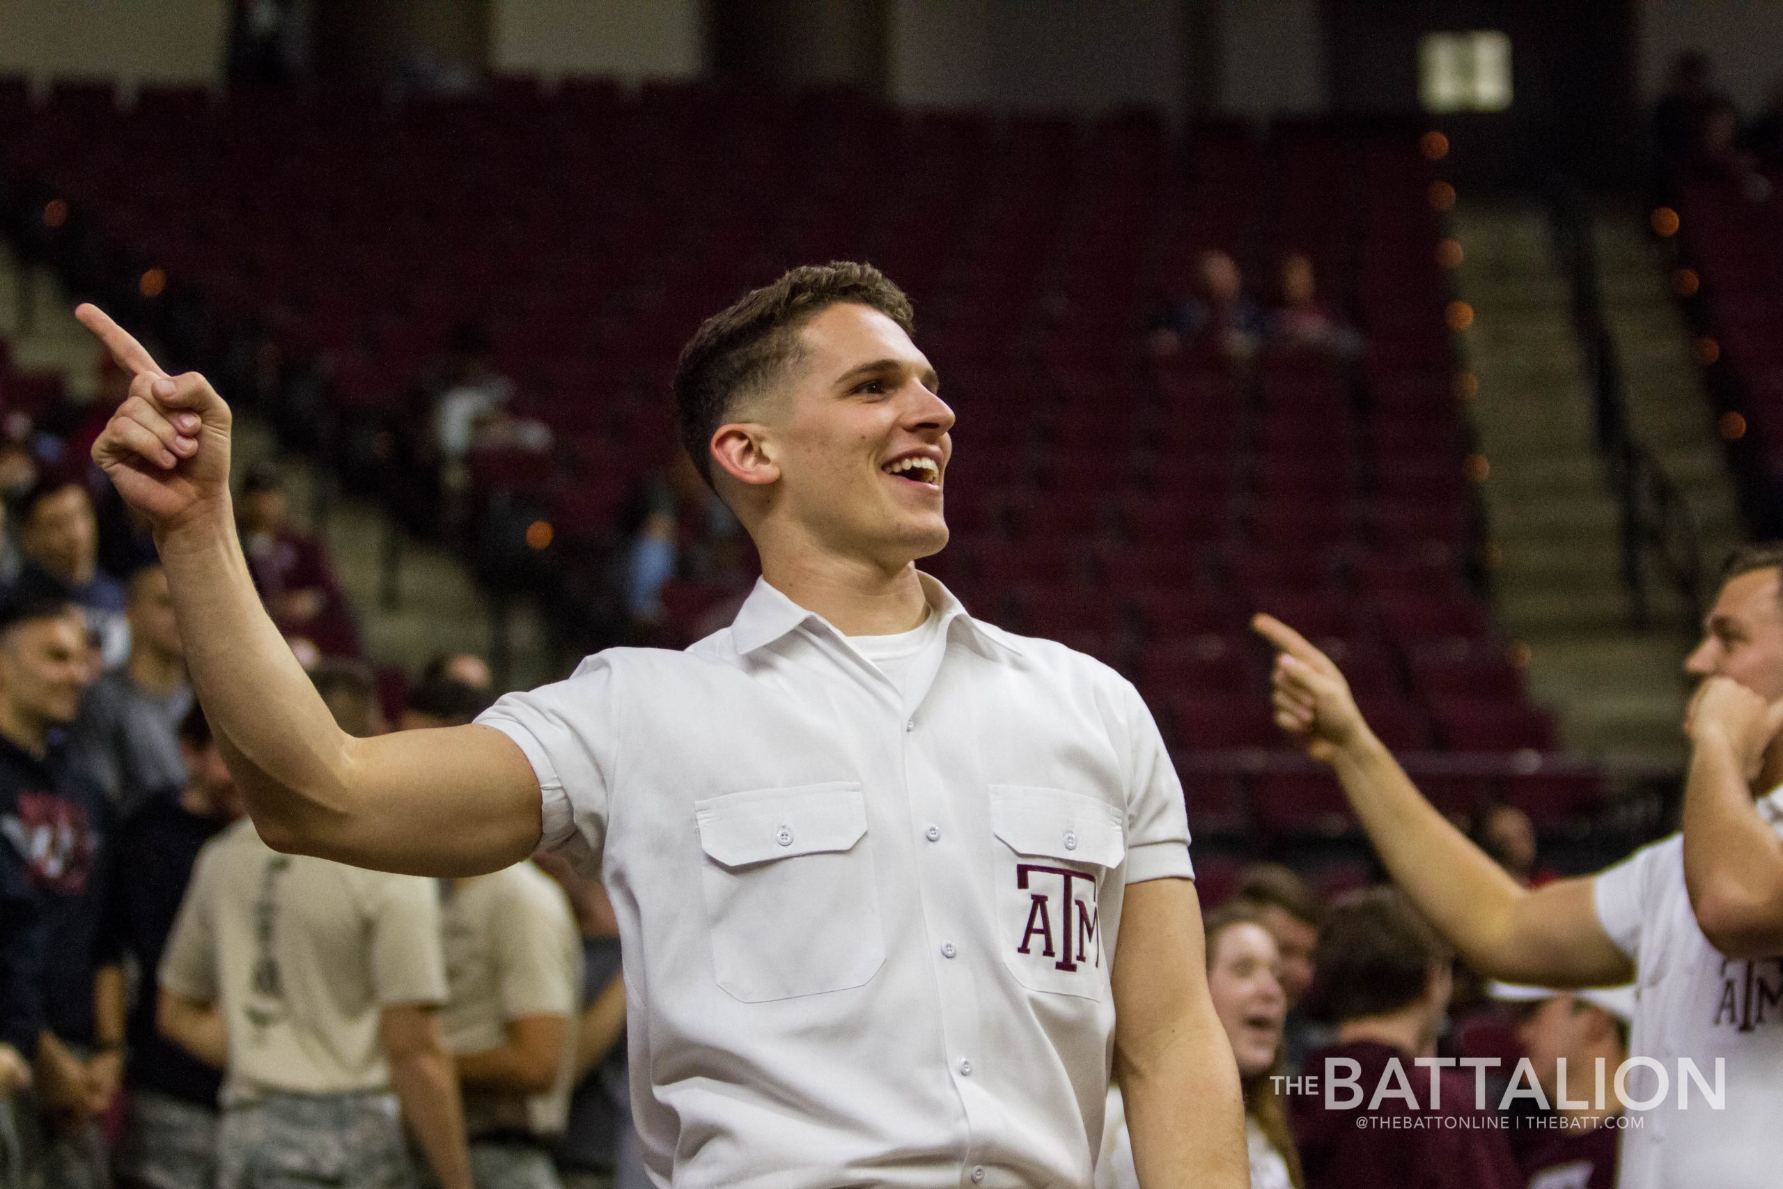
[[[797,353],[799,330],[833,305],[879,310],[904,333],[916,333],[909,298],[872,264],[838,260],[795,267],[772,285],[744,294],[713,314],[686,346],[674,374],[681,444],[711,483],[711,435],[740,394],[770,380]]]

